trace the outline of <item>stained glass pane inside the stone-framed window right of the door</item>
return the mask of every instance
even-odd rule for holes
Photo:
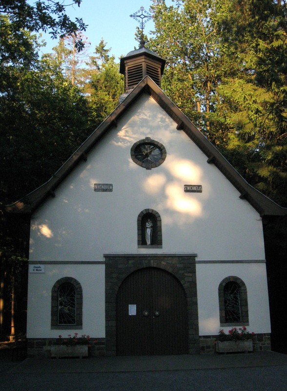
[[[240,287],[237,282],[227,282],[224,287],[225,322],[241,322]]]

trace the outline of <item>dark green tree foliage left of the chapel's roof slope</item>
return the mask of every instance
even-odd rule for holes
[[[1,196],[15,200],[48,180],[85,139],[88,111],[48,59],[10,70],[9,95],[0,95],[0,177]]]

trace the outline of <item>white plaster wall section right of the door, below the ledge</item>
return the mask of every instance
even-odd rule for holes
[[[246,284],[249,326],[255,333],[270,332],[269,302],[265,263],[205,263],[196,265],[199,335],[226,333],[230,326],[221,327],[219,321],[218,287],[225,277],[239,277]]]

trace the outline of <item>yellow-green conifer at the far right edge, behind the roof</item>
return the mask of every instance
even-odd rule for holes
[[[234,130],[228,149],[245,151],[251,181],[287,206],[286,3],[234,0],[222,26],[240,65],[221,87]]]

